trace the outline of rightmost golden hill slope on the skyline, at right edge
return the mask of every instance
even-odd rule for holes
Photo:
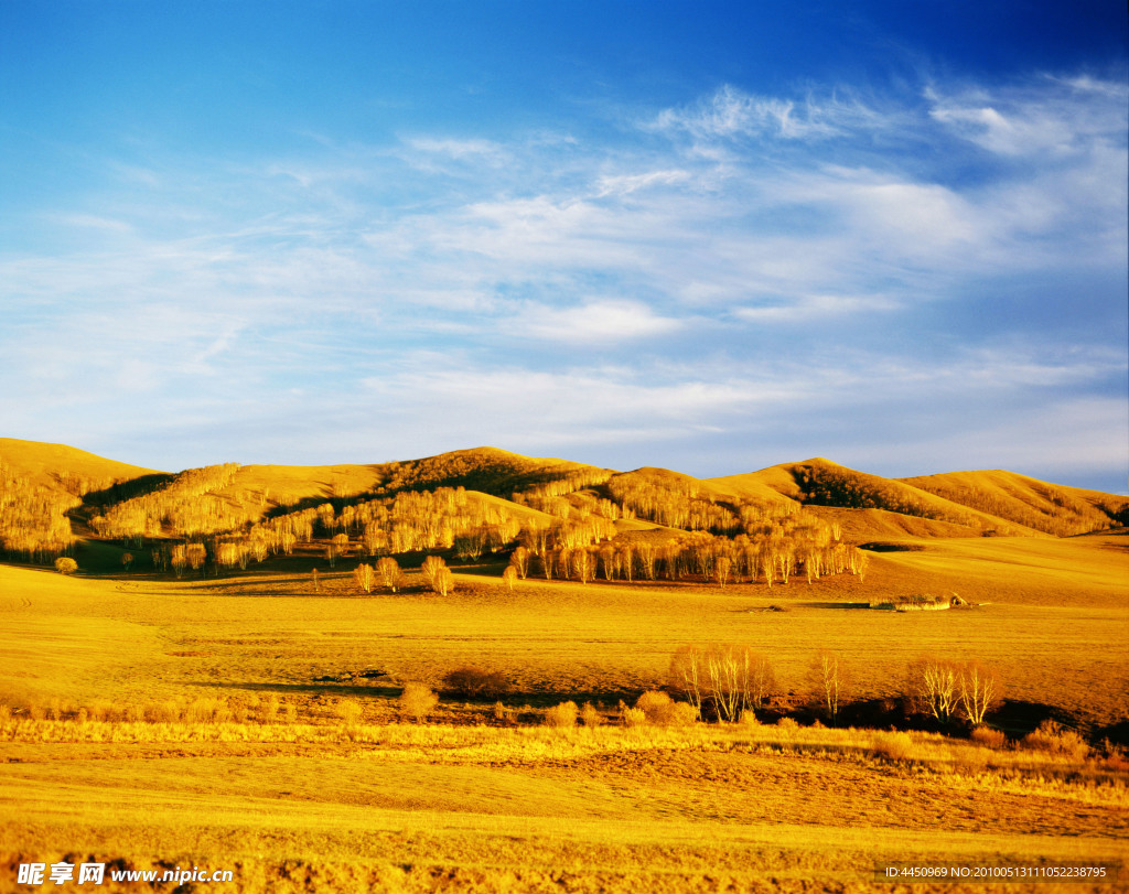
[[[1129,499],[1068,488],[999,468],[901,479],[919,490],[1056,536],[1129,522]]]

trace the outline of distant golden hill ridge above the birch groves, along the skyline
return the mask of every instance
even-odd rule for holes
[[[173,476],[65,445],[0,438],[0,510],[9,512],[24,499],[20,493],[34,493],[36,499],[54,499],[59,514],[70,512],[72,520],[81,523],[82,511],[77,509],[81,501],[90,507],[88,519],[106,506],[161,489],[175,491],[177,481],[191,480],[198,482],[194,493],[207,494],[221,511],[240,519],[326,500],[344,503],[409,490],[464,488],[531,506],[581,492],[593,503],[638,502],[646,493],[677,492],[707,510],[709,503],[717,503],[719,514],[727,506],[734,512],[758,505],[772,511],[803,506],[849,522],[858,538],[890,531],[914,536],[1070,536],[1129,523],[1124,497],[1013,472],[886,479],[822,457],[714,479],[654,467],[621,473],[493,447],[371,465],[227,464],[222,468],[222,475],[184,472]],[[202,481],[215,481],[215,487]]]

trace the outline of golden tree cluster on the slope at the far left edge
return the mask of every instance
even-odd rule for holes
[[[32,562],[70,551],[75,534],[67,512],[79,505],[78,496],[36,484],[0,461],[0,550]]]

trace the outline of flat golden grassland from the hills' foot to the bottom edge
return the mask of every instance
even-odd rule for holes
[[[741,642],[785,691],[822,647],[850,663],[851,698],[895,693],[929,652],[997,665],[1012,699],[1124,720],[1124,543],[908,538],[925,549],[874,554],[865,582],[771,589],[510,593],[482,566],[446,598],[413,576],[362,596],[345,562],[315,593],[305,556],[180,580],[0,566],[0,889],[20,861],[68,854],[234,868],[248,892],[856,889],[887,861],[1123,862],[1115,755],[788,722],[624,728],[615,704],[665,682],[679,646]],[[951,590],[991,605],[854,607]],[[469,663],[514,695],[400,721],[401,683]],[[387,675],[350,676],[366,669]],[[607,725],[531,726],[567,699]]]

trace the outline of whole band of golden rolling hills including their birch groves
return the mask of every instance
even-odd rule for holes
[[[776,566],[785,578],[805,563],[848,567],[833,554],[835,544],[1069,536],[1129,517],[1123,497],[1009,472],[892,480],[821,457],[702,480],[479,447],[368,465],[227,463],[174,475],[10,438],[0,439],[0,549],[33,561],[70,551],[77,537],[120,540],[130,549],[210,537],[209,555],[219,549],[216,538],[255,554],[289,554],[295,543],[313,549],[315,541],[323,550],[331,538],[343,550],[364,541],[369,554],[393,544],[394,552],[450,549],[455,537],[464,546],[470,537],[511,549],[524,538],[536,542],[540,555],[662,528],[656,544],[667,544],[666,559],[655,568],[648,559],[648,575],[677,575],[683,566],[710,573],[714,558],[729,556],[735,573]],[[627,540],[616,544],[628,549]]]

